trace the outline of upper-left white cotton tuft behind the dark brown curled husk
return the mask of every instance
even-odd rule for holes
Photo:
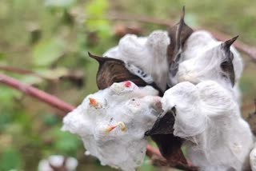
[[[147,78],[150,75],[156,85],[165,90],[169,70],[167,62],[169,44],[170,38],[166,31],[156,30],[147,38],[127,34],[121,38],[118,46],[106,51],[103,56],[126,62],[127,69],[147,83],[151,83]]]

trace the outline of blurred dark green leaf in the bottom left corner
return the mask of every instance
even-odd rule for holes
[[[0,170],[19,169],[22,164],[22,158],[17,149],[4,149],[0,157]]]

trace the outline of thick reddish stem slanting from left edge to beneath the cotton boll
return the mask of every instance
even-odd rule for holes
[[[0,83],[8,85],[14,89],[18,89],[19,91],[22,91],[23,93],[26,93],[27,95],[31,97],[37,98],[39,101],[45,102],[47,105],[50,105],[54,108],[60,109],[65,113],[62,113],[62,116],[65,116],[66,113],[69,113],[72,111],[75,107],[73,105],[69,105],[66,102],[58,99],[58,97],[54,97],[53,95],[50,95],[49,93],[46,93],[40,89],[37,89],[31,85],[26,85],[22,82],[19,82],[18,80],[11,78],[7,76],[6,74],[0,74]],[[157,160],[162,161],[163,165],[174,165],[175,167],[179,168],[179,164],[169,164],[164,157],[162,157],[161,153],[158,149],[155,149],[154,147],[147,145],[146,146],[146,154],[149,157],[157,157]],[[188,165],[182,165],[185,170],[194,170],[194,167],[190,167]]]

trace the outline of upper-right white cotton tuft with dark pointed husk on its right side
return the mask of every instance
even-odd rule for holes
[[[242,58],[231,46],[237,38],[219,42],[204,30],[194,32],[182,48],[178,72],[170,74],[170,82],[198,84],[212,80],[229,89],[240,101],[238,80],[242,75]]]

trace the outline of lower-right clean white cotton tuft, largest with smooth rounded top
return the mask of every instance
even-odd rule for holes
[[[181,82],[162,97],[162,109],[175,109],[174,135],[187,139],[188,157],[201,170],[242,170],[253,144],[238,103],[217,82]]]

